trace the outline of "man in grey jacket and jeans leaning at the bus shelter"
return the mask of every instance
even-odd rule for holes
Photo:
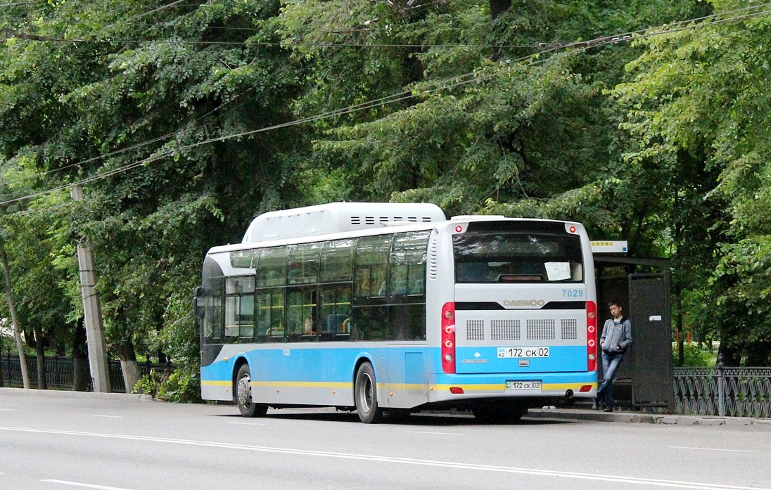
[[[604,411],[613,411],[613,380],[621,360],[624,359],[624,353],[631,345],[631,320],[621,314],[621,305],[617,300],[611,300],[608,308],[612,318],[605,321],[600,337],[603,380],[591,408],[597,410],[602,397],[605,403]]]

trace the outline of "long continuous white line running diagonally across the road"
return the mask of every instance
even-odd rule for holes
[[[636,485],[649,485],[665,488],[692,488],[701,490],[771,490],[766,487],[745,487],[740,485],[719,485],[702,482],[685,482],[682,480],[663,480],[658,478],[637,478],[623,475],[594,475],[591,473],[559,472],[547,469],[517,468],[513,466],[476,465],[458,461],[438,461],[430,459],[399,458],[396,456],[357,455],[354,453],[334,451],[311,451],[307,449],[274,448],[270,446],[254,446],[231,444],[228,442],[196,441],[194,439],[155,438],[142,435],[102,434],[98,432],[59,431],[50,429],[34,429],[22,427],[0,427],[0,431],[27,432],[34,434],[74,435],[86,438],[120,439],[124,441],[162,442],[167,444],[190,445],[204,448],[237,449],[240,451],[261,451],[284,455],[317,456],[319,458],[338,458],[359,461],[379,461],[399,465],[420,465],[436,468],[465,469],[480,472],[515,473],[518,475],[548,476],[552,478],[569,478],[574,480],[592,480],[595,482],[614,482]],[[126,490],[126,489],[119,489]]]

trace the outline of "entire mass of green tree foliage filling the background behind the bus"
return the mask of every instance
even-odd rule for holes
[[[264,210],[426,201],[581,220],[672,257],[678,318],[729,363],[771,362],[771,20],[731,17],[747,6],[12,2],[0,238],[22,323],[71,348],[88,240],[109,343],[169,355],[173,381],[142,389],[184,399],[209,247]],[[563,48],[712,8],[726,18]],[[79,203],[38,195],[80,180]]]

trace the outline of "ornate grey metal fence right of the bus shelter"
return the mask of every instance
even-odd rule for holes
[[[771,367],[675,367],[675,413],[771,417]]]

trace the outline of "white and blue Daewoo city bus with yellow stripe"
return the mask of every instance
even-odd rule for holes
[[[201,397],[426,409],[517,421],[597,394],[594,265],[581,223],[328,203],[256,217],[213,247],[194,294]]]

